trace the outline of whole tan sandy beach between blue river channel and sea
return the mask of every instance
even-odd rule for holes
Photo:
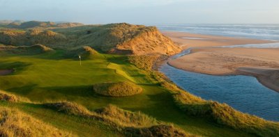
[[[169,65],[181,70],[211,75],[255,76],[264,86],[279,92],[279,49],[216,48],[225,45],[262,44],[273,41],[225,38],[209,35],[167,32],[174,42],[181,42],[184,49],[195,47],[191,54],[168,61]],[[186,37],[191,39],[183,39]],[[178,41],[176,41],[178,40]],[[238,41],[239,40],[239,41]],[[206,44],[207,42],[207,44]],[[237,43],[237,44],[236,44]],[[215,48],[213,48],[214,46]]]

